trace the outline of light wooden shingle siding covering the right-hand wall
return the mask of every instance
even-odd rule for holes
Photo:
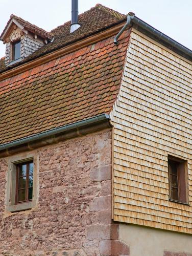
[[[192,233],[192,69],[132,30],[114,125],[114,221]],[[169,201],[167,156],[188,161],[189,205]]]

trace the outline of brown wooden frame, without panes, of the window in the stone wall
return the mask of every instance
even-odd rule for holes
[[[33,163],[32,161],[27,161],[27,162],[21,162],[16,164],[16,193],[15,193],[15,204],[22,204],[22,203],[27,203],[27,202],[31,202],[33,199],[27,199],[29,197],[29,165],[30,163]],[[26,169],[26,200],[23,201],[18,201],[18,192],[19,192],[19,170],[20,170],[20,166],[26,164],[27,165],[27,169]],[[34,174],[33,174],[34,175]],[[33,188],[33,186],[32,186]]]

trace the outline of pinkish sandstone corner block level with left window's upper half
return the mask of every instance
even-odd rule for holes
[[[90,172],[92,181],[111,180],[111,165],[93,168]]]

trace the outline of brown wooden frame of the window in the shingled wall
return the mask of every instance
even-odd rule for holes
[[[177,164],[177,183],[178,183],[178,200],[171,197],[171,171],[170,162]],[[177,203],[188,204],[188,171],[187,161],[178,157],[168,156],[168,174],[169,174],[169,200]]]

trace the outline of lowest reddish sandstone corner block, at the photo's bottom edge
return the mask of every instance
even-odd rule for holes
[[[118,240],[103,240],[99,243],[100,253],[103,256],[129,256],[129,246]]]

